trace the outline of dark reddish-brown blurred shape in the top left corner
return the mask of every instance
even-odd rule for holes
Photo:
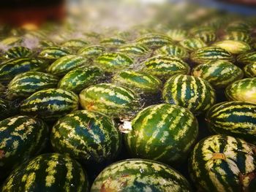
[[[0,23],[37,28],[47,20],[61,21],[66,15],[64,0],[1,0]]]

